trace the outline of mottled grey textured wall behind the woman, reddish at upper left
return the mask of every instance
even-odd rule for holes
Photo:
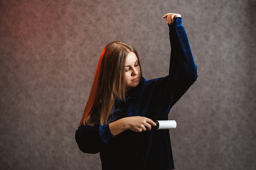
[[[164,13],[181,13],[198,80],[169,119],[177,170],[254,170],[253,0],[1,0],[0,169],[100,170],[74,140],[103,47],[135,46],[147,79],[168,72]]]

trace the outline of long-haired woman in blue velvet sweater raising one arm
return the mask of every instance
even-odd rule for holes
[[[163,16],[169,26],[169,75],[142,77],[137,51],[111,42],[102,51],[76,142],[83,152],[100,152],[102,170],[174,169],[168,130],[155,130],[197,78],[197,66],[180,14]]]

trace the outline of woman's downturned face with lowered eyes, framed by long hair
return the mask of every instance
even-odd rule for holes
[[[141,71],[138,58],[135,53],[130,52],[126,56],[125,61],[125,79],[128,90],[139,85],[140,76]]]

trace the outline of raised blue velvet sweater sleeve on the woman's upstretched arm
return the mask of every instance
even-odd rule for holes
[[[182,18],[175,18],[173,24],[169,25],[169,31],[171,61],[169,75],[166,78],[167,90],[172,96],[172,107],[195,82],[198,74]]]

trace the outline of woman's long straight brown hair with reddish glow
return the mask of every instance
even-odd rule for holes
[[[115,100],[125,99],[125,60],[130,52],[136,54],[140,65],[137,51],[125,42],[110,42],[102,50],[79,126],[107,124]]]

